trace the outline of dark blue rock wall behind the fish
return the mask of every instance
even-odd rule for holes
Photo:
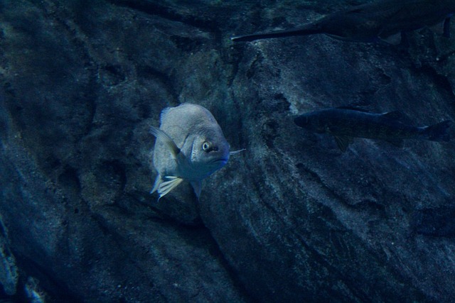
[[[230,42],[355,1],[276,2],[0,2],[0,295],[455,297],[455,143],[358,139],[341,153],[292,122],[346,105],[454,120],[454,40],[424,29],[399,46]],[[185,183],[156,202],[149,126],[181,102],[247,150],[203,181],[199,202]]]

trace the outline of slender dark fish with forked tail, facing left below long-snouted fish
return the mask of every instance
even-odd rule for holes
[[[343,152],[353,138],[380,139],[402,147],[403,139],[449,141],[451,121],[432,126],[412,126],[400,111],[373,114],[360,109],[340,107],[302,114],[294,119],[297,126],[314,133],[332,135]]]

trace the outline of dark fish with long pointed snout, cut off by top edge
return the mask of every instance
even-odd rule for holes
[[[287,31],[240,35],[232,41],[253,41],[296,35],[326,34],[350,42],[400,43],[401,33],[441,24],[449,37],[455,0],[382,0],[331,13],[317,21]]]

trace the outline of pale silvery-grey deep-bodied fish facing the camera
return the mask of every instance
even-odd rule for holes
[[[156,177],[151,193],[159,199],[183,180],[191,183],[199,198],[201,180],[228,163],[230,151],[215,117],[203,106],[181,104],[161,111],[160,127],[151,127],[156,137],[154,167]]]

